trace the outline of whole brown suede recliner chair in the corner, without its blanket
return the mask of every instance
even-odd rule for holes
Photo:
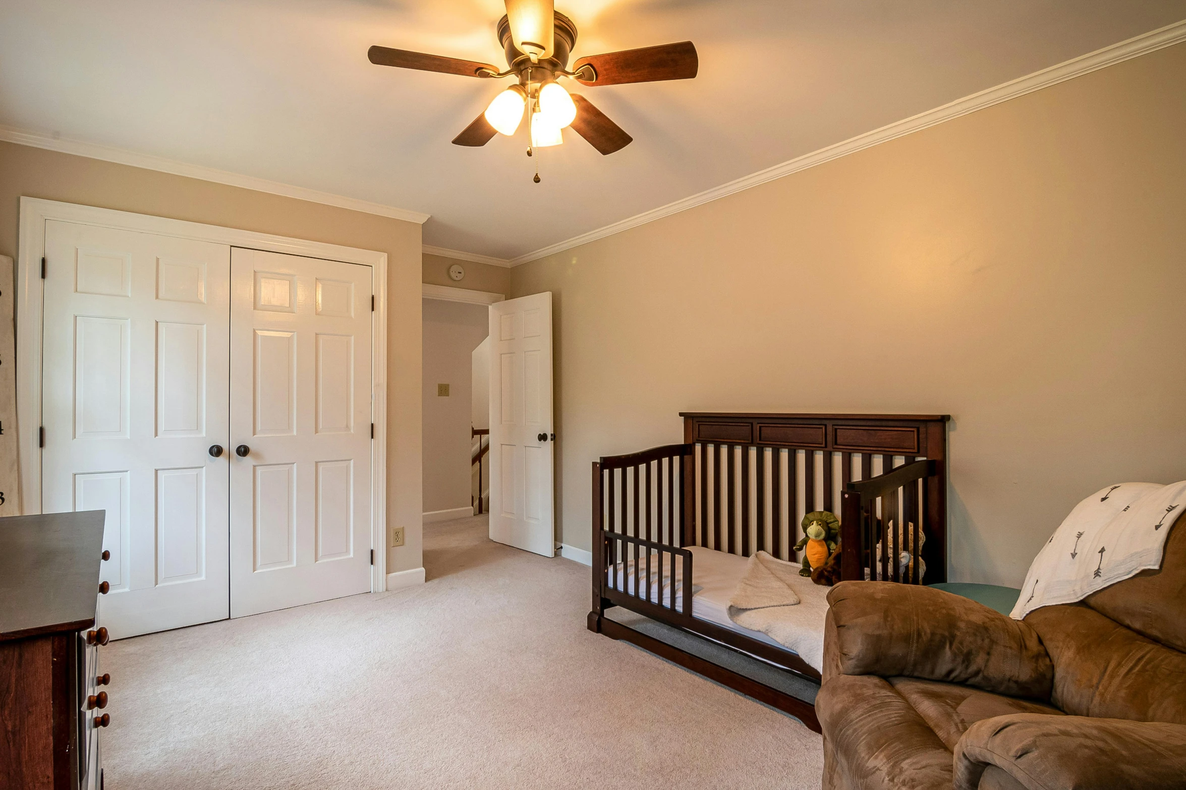
[[[824,790],[1186,788],[1186,526],[1160,570],[1021,622],[888,582],[828,602]]]

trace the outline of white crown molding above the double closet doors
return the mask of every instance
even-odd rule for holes
[[[267,192],[269,194],[279,194],[285,198],[320,203],[326,206],[337,206],[338,208],[349,208],[350,211],[361,211],[363,213],[377,214],[380,217],[390,217],[391,219],[403,219],[419,225],[423,225],[429,217],[429,214],[423,212],[409,211],[396,206],[387,206],[381,203],[371,203],[370,200],[358,200],[357,198],[347,198],[345,195],[332,194],[330,192],[306,190],[305,187],[281,184],[279,181],[269,181],[267,179],[259,179],[253,175],[241,175],[238,173],[219,171],[212,167],[190,165],[187,162],[179,162],[172,159],[165,159],[164,156],[154,156],[152,154],[139,154],[134,150],[102,146],[94,142],[55,137],[52,135],[26,131],[14,127],[0,126],[0,141],[14,142],[20,146],[32,146],[33,148],[45,148],[46,150],[56,150],[63,154],[74,154],[76,156],[87,156],[89,159],[100,159],[106,162],[115,162],[117,165],[142,167],[145,169],[158,171],[160,173],[184,175],[191,179],[200,179],[203,181],[213,181],[215,184],[225,184],[228,186],[237,186],[244,190],[254,190],[255,192]]]

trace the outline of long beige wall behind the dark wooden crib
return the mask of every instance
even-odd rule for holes
[[[557,515],[681,410],[948,412],[951,578],[1186,477],[1186,45],[512,269],[550,290]]]

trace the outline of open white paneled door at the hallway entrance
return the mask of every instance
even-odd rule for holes
[[[490,539],[556,553],[551,294],[490,306]]]

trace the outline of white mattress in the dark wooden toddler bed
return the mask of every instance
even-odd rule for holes
[[[731,631],[748,636],[758,642],[772,644],[780,650],[795,653],[795,650],[791,650],[785,644],[776,642],[761,631],[752,631],[748,628],[741,628],[729,619],[729,598],[733,596],[733,590],[737,589],[738,582],[745,573],[746,564],[750,561],[747,558],[738,557],[737,554],[726,554],[725,552],[713,551],[712,548],[704,548],[702,546],[689,546],[688,551],[691,552],[691,582],[694,585],[691,597],[693,617],[720,625],[721,628],[727,628]],[[664,554],[663,559],[664,567],[661,574],[658,569],[658,558],[653,554],[651,555],[651,591],[648,597],[651,603],[659,603],[664,606],[670,606],[671,555]],[[618,563],[616,574],[616,580],[619,587],[625,587],[626,591],[631,593],[635,591],[633,564],[633,560]],[[639,558],[638,566],[640,571],[638,576],[642,580],[640,589],[645,593],[645,558]],[[662,585],[659,584],[661,578]],[[677,611],[683,611],[683,563],[678,558],[676,559],[675,583],[675,608]],[[820,609],[825,612],[828,608],[827,597],[829,589],[830,587],[820,586],[817,584],[804,584],[797,586],[795,591],[804,603],[822,604]],[[816,608],[812,606],[812,609]],[[823,634],[823,615],[821,615],[818,619],[818,632]]]

